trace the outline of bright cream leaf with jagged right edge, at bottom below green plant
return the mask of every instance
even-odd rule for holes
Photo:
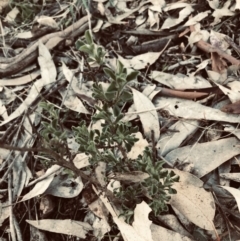
[[[132,226],[141,237],[144,237],[146,241],[153,241],[150,229],[152,221],[148,218],[151,211],[152,209],[144,201],[137,204],[134,209],[134,221]]]

